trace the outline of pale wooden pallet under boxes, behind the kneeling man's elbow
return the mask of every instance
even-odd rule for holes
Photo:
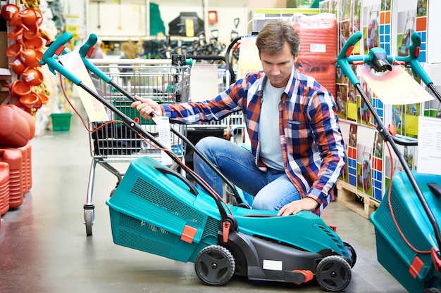
[[[344,205],[348,209],[355,211],[360,216],[369,219],[373,211],[378,208],[380,202],[373,199],[366,193],[356,189],[356,187],[344,181],[337,181],[337,196],[335,201]]]

